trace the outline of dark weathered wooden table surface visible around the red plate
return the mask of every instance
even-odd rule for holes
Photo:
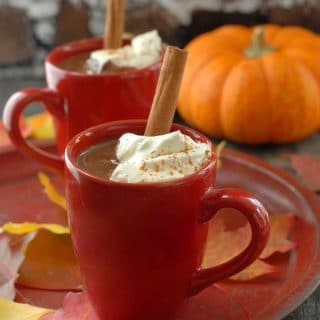
[[[0,70],[1,72],[1,70]],[[0,112],[5,101],[16,90],[26,87],[43,87],[45,82],[43,79],[0,79]],[[39,110],[38,106],[32,106],[27,113]],[[218,141],[217,141],[218,142]],[[238,144],[228,143],[228,147],[247,152],[251,155],[264,159],[269,164],[282,168],[294,174],[290,167],[288,155],[291,153],[301,153],[306,155],[314,155],[320,158],[320,133],[316,133],[308,139],[286,145],[267,145],[260,147],[248,147]],[[318,196],[320,201],[320,195]],[[284,320],[316,320],[320,319],[320,287],[296,310],[289,314]]]

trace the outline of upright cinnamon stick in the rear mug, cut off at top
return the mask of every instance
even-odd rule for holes
[[[104,49],[118,49],[122,46],[125,24],[125,0],[108,0],[103,34]]]

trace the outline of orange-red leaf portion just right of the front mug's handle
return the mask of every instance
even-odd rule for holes
[[[261,259],[269,258],[275,252],[288,252],[296,246],[294,242],[288,240],[294,223],[295,215],[293,214],[270,216],[270,238],[260,255]]]

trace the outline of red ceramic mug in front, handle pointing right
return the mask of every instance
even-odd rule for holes
[[[262,204],[241,189],[215,189],[216,157],[184,178],[123,183],[77,166],[88,147],[125,132],[143,134],[145,122],[117,121],[90,128],[66,147],[68,215],[85,289],[101,320],[167,320],[182,301],[251,264],[269,235]],[[174,125],[196,141],[200,133]],[[240,210],[252,239],[230,261],[201,269],[208,221],[221,208]]]

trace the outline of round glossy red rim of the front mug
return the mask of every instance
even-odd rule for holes
[[[180,130],[182,129],[183,133],[186,133],[188,136],[190,136],[192,139],[196,138],[196,141],[201,141],[209,144],[211,147],[211,157],[208,160],[208,162],[201,167],[199,170],[195,171],[192,174],[186,175],[181,178],[175,178],[175,179],[170,179],[166,181],[156,181],[156,182],[122,182],[122,181],[113,181],[107,178],[101,178],[97,177],[93,174],[90,174],[86,172],[85,170],[81,169],[77,163],[77,157],[80,155],[80,153],[90,145],[86,145],[85,147],[82,148],[82,150],[78,151],[76,155],[73,155],[73,150],[74,148],[83,141],[83,139],[86,139],[86,137],[92,137],[94,135],[100,134],[103,131],[106,131],[107,128],[114,127],[115,129],[118,127],[137,127],[137,126],[144,126],[146,125],[147,120],[140,120],[140,119],[129,119],[129,120],[118,120],[118,121],[112,121],[112,122],[107,122],[103,123],[97,126],[90,127],[79,134],[77,134],[75,137],[73,137],[68,143],[65,148],[65,153],[64,153],[64,162],[65,162],[65,170],[68,170],[72,176],[75,178],[78,178],[80,176],[84,176],[85,178],[99,184],[104,184],[107,186],[121,186],[121,187],[127,187],[127,188],[140,188],[140,187],[148,187],[148,188],[163,188],[163,187],[169,187],[173,185],[179,185],[179,184],[189,184],[193,183],[195,180],[201,179],[204,177],[210,170],[214,170],[216,168],[216,152],[214,150],[214,144],[211,142],[211,140],[203,135],[202,133],[181,125],[177,123],[173,123],[172,125],[172,131],[174,130]],[[130,129],[129,129],[130,130]],[[108,132],[106,131],[104,135],[106,135]],[[118,136],[119,137],[119,136]],[[93,144],[97,144],[102,142],[103,138],[98,139],[98,141],[95,141]],[[85,144],[85,143],[84,143]]]

